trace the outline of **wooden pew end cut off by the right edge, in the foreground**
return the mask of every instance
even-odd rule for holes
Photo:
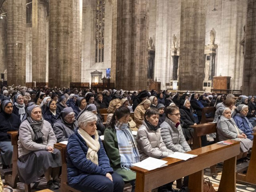
[[[237,170],[236,182],[256,187],[256,133],[253,133],[252,153],[247,172],[243,174]]]

